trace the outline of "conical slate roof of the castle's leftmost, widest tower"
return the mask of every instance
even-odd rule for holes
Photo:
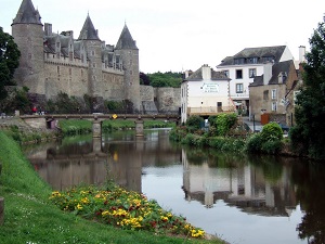
[[[41,17],[38,10],[35,10],[31,0],[23,0],[21,8],[16,17],[13,20],[12,24],[39,24],[41,23]]]

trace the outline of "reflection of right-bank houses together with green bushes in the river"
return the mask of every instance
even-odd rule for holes
[[[218,200],[223,200],[245,213],[263,216],[289,216],[296,208],[290,168],[274,158],[239,157],[212,151],[205,156],[195,154],[202,152],[182,151],[187,201],[197,200],[206,207],[213,207]]]

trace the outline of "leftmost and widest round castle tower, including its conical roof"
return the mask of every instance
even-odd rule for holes
[[[44,97],[43,25],[31,0],[23,0],[12,23],[12,36],[21,50],[20,66],[14,79],[29,93]]]

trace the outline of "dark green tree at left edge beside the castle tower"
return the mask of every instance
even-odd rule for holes
[[[20,56],[21,52],[13,37],[3,33],[0,27],[0,100],[8,95],[5,86],[14,85],[12,78],[20,65]]]

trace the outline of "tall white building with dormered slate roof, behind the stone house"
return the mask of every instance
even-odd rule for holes
[[[233,56],[225,57],[217,66],[217,72],[223,72],[230,79],[230,97],[237,108],[249,112],[249,89],[253,77],[263,75],[263,64],[294,60],[286,46],[246,48]]]

